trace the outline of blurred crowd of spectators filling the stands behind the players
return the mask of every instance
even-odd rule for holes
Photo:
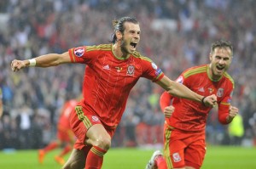
[[[29,68],[12,72],[12,59],[66,52],[108,43],[112,20],[136,17],[141,26],[138,51],[175,80],[185,69],[207,64],[211,43],[234,45],[229,73],[236,82],[232,104],[240,109],[244,134],[256,140],[256,1],[247,0],[1,0],[0,87],[4,114],[0,149],[38,149],[55,136],[65,100],[79,96],[84,65]],[[113,146],[160,144],[164,116],[162,89],[141,79],[131,91]],[[209,144],[229,144],[228,129],[216,110],[208,118]],[[243,142],[242,142],[243,140]],[[230,142],[231,143],[231,142]],[[254,143],[255,144],[255,143]]]

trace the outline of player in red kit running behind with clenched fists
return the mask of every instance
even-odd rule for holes
[[[226,72],[233,59],[229,41],[212,43],[210,64],[184,70],[177,82],[201,95],[216,94],[218,121],[224,125],[233,121],[238,109],[231,105],[235,82]],[[166,116],[164,129],[164,157],[157,150],[146,168],[201,168],[206,155],[207,116],[212,108],[168,93],[160,98],[160,107]]]

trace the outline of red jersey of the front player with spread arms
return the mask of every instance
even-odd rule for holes
[[[112,50],[112,44],[69,49],[72,62],[86,64],[84,99],[79,105],[98,115],[107,127],[119,124],[131,88],[140,77],[157,82],[164,76],[151,59],[137,52],[119,59]]]

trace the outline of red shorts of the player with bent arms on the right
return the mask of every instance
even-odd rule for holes
[[[205,131],[184,132],[165,123],[165,157],[168,168],[200,168],[206,155]]]

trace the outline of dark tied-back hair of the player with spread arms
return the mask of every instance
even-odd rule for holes
[[[138,21],[135,18],[131,18],[129,16],[122,17],[119,20],[113,20],[112,25],[113,25],[113,31],[114,32],[113,32],[112,39],[111,39],[112,43],[115,43],[117,41],[117,37],[115,35],[116,31],[120,31],[122,34],[124,33],[124,31],[125,31],[125,26],[124,26],[125,22],[131,22],[133,24],[138,24]]]

